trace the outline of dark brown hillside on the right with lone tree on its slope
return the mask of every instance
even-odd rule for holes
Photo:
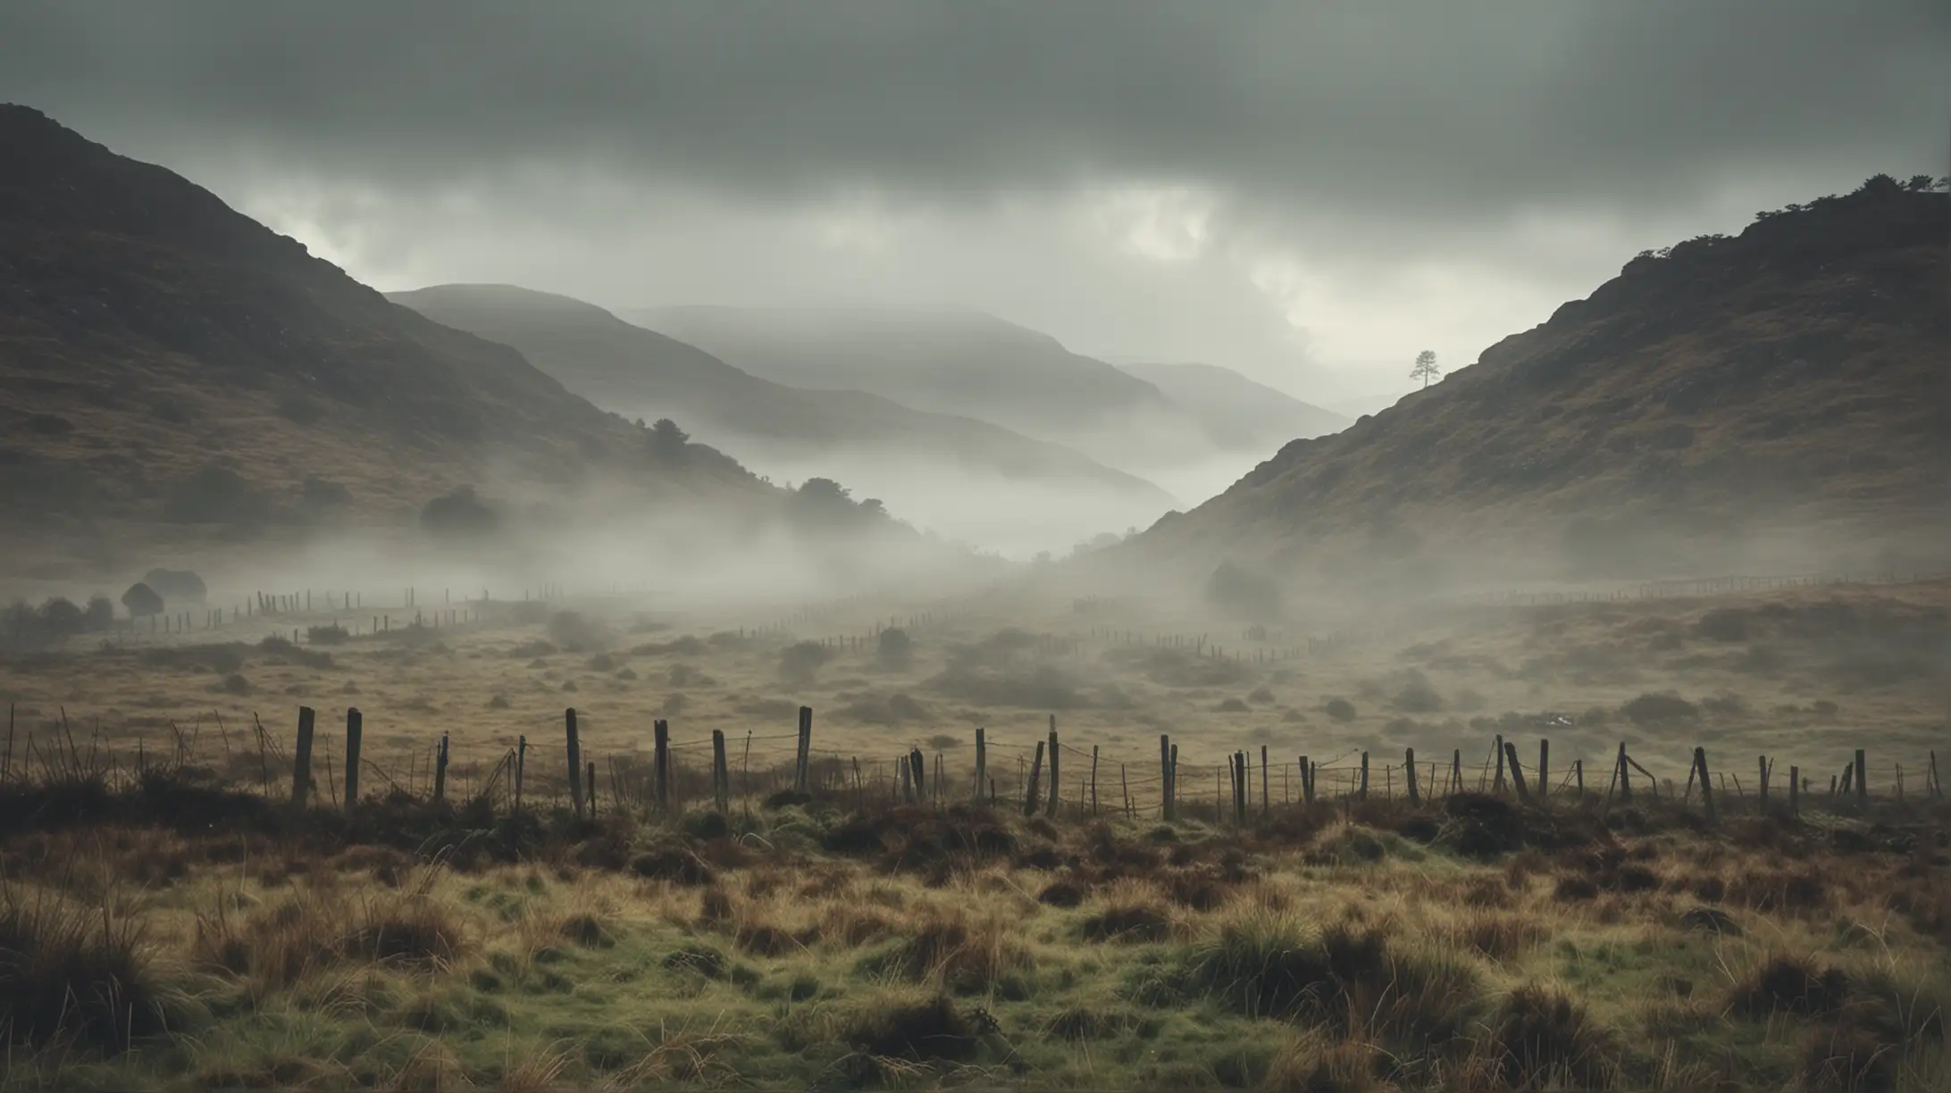
[[[1288,580],[1943,564],[1947,238],[1951,197],[1879,176],[1641,254],[1126,550]]]

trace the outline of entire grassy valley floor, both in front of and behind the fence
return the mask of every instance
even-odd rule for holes
[[[1001,593],[743,628],[552,599],[76,638],[0,662],[4,1083],[1947,1089],[1943,603],[1783,587],[1262,634]],[[810,794],[782,792],[800,705]],[[564,708],[595,820],[568,808]],[[995,808],[968,804],[977,728]],[[1498,734],[1533,790],[1551,740],[1549,810],[1500,785]],[[1656,796],[1608,792],[1621,742]],[[1824,779],[1857,748],[1867,808]],[[909,749],[929,775],[901,804]]]

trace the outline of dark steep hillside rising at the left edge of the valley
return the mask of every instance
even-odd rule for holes
[[[490,476],[767,504],[515,349],[388,303],[160,166],[0,105],[0,511],[400,517]]]

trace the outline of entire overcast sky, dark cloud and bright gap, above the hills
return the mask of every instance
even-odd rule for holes
[[[1945,174],[1947,57],[1943,0],[0,6],[0,100],[380,289],[972,306],[1321,402]]]

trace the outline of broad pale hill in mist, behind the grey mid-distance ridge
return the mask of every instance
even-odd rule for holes
[[[1143,474],[1214,451],[1157,386],[979,312],[667,306],[622,316],[751,375],[979,418]]]

